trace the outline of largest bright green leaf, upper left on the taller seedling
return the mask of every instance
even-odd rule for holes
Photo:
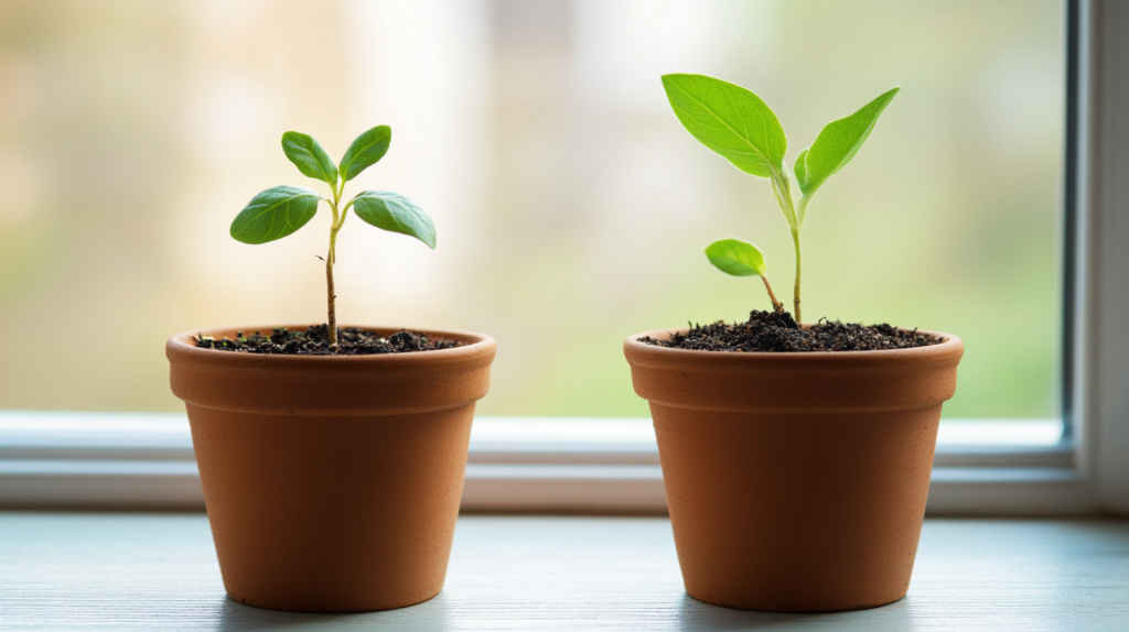
[[[760,97],[703,74],[665,74],[663,87],[686,131],[734,167],[763,178],[784,170],[788,139]]]

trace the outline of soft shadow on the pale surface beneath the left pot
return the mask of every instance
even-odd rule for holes
[[[360,613],[308,613],[272,611],[248,606],[224,596],[217,604],[218,621],[215,630],[235,632],[242,630],[418,630],[421,622],[427,630],[441,632],[449,626],[446,622],[441,595],[422,604],[391,611]]]

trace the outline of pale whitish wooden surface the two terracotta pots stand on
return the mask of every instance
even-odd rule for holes
[[[0,630],[1129,631],[1129,522],[928,519],[904,599],[794,615],[689,597],[665,518],[464,516],[438,597],[316,615],[227,599],[203,515],[11,511]]]

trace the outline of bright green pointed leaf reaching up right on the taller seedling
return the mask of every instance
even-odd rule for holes
[[[901,90],[893,88],[878,98],[863,106],[863,109],[829,123],[812,143],[812,149],[800,154],[796,160],[796,180],[804,195],[812,195],[823,186],[828,178],[847,166],[859,148],[866,142],[878,121],[878,115],[886,109],[894,95]]]

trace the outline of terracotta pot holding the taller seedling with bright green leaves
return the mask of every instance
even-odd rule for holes
[[[671,333],[623,350],[650,402],[686,593],[781,612],[904,596],[961,340],[791,354],[638,341]]]

